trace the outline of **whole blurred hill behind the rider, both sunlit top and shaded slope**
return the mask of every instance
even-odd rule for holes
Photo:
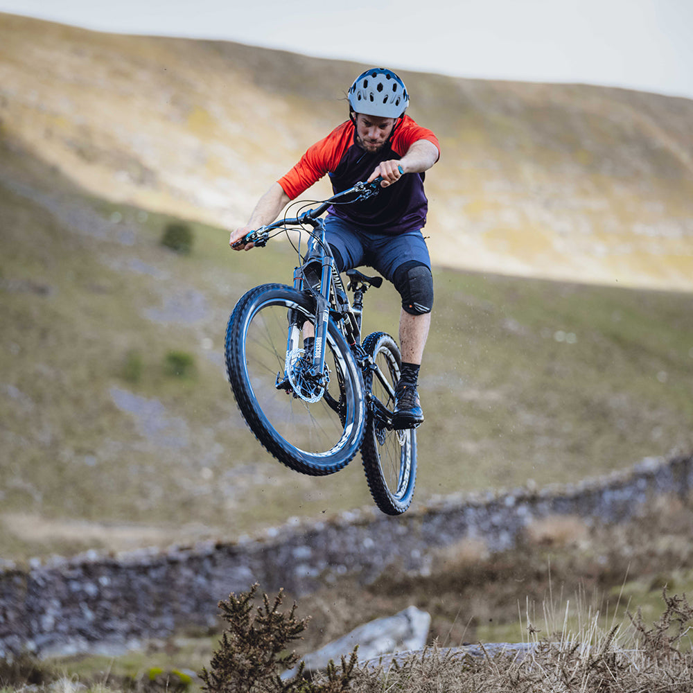
[[[0,556],[370,505],[358,460],[313,479],[264,455],[222,367],[238,297],[294,266],[227,229],[362,67],[0,14]],[[690,446],[693,101],[402,76],[443,150],[415,507]],[[172,223],[190,254],[161,246]],[[396,334],[393,306],[369,292],[367,331]]]

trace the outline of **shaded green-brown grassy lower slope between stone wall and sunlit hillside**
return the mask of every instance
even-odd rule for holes
[[[370,504],[357,461],[315,479],[267,457],[225,382],[228,314],[256,283],[290,280],[290,250],[231,254],[225,231],[195,224],[178,256],[159,246],[165,222],[3,148],[3,558],[233,539]],[[435,275],[417,504],[690,444],[690,295]],[[394,304],[392,288],[370,292],[366,331],[396,333]],[[166,374],[171,349],[193,355],[193,376]]]

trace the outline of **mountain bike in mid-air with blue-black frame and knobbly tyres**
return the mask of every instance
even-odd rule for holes
[[[338,204],[377,195],[381,180],[357,183],[315,209],[306,209],[315,202],[295,203],[304,204],[297,216],[283,216],[240,241],[263,247],[287,234],[299,265],[292,286],[263,284],[240,298],[229,317],[225,357],[240,412],[279,462],[303,474],[333,474],[360,450],[376,505],[399,515],[410,506],[416,482],[416,431],[392,426],[401,354],[385,332],[361,341],[363,297],[383,278],[347,270],[345,287],[322,218]]]

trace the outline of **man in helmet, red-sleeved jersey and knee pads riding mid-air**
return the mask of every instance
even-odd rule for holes
[[[416,387],[433,306],[430,257],[421,233],[428,211],[423,179],[439,158],[439,143],[435,134],[405,115],[409,94],[392,70],[373,68],[360,74],[348,100],[349,120],[308,148],[298,164],[272,184],[247,225],[231,231],[229,245],[271,224],[290,200],[325,174],[335,193],[360,180],[382,177],[383,189],[375,198],[329,210],[326,238],[340,272],[369,265],[401,295],[402,367],[393,426],[414,428],[423,422]],[[235,249],[252,247],[247,243]]]

